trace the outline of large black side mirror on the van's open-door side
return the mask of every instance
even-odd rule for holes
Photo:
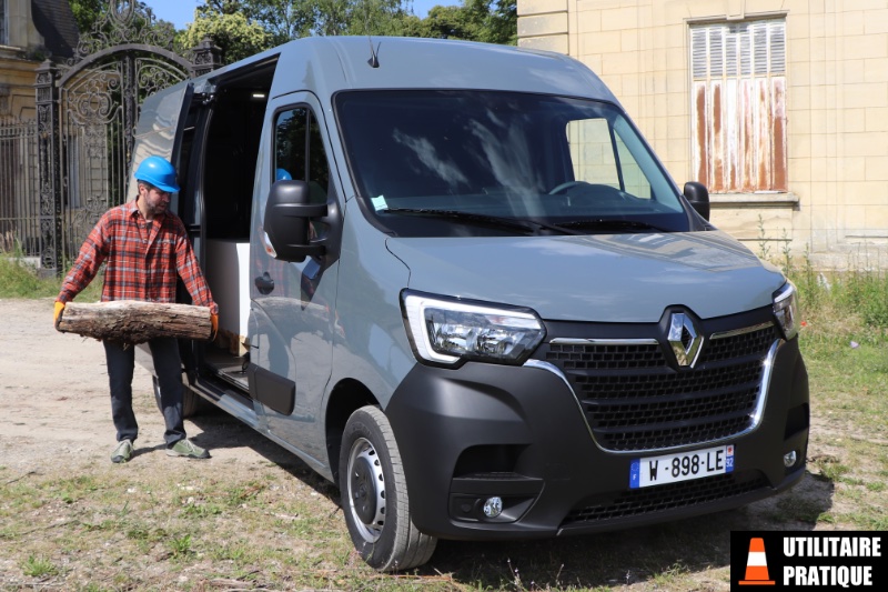
[[[324,254],[325,247],[309,239],[309,221],[326,214],[326,203],[309,203],[309,184],[304,181],[275,182],[269,192],[263,220],[275,257],[300,263],[306,257]]]

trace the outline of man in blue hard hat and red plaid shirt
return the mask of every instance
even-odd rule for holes
[[[64,303],[77,297],[107,262],[102,301],[142,300],[175,302],[176,279],[181,278],[192,303],[208,307],[213,331],[219,307],[213,302],[182,221],[168,211],[171,193],[179,191],[175,169],[161,157],[148,157],[135,171],[138,195],[134,201],[105,212],[80,248],[80,253],[56,299],[58,322]],[[111,415],[118,444],[111,462],[132,456],[139,425],[132,410],[134,348],[104,341],[108,380],[111,388]],[[209,459],[206,450],[185,437],[182,421],[182,370],[179,343],[174,338],[148,342],[160,387],[161,408],[167,423],[167,454]]]

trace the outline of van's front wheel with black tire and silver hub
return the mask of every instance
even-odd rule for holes
[[[401,453],[389,419],[376,407],[359,409],[345,424],[340,493],[349,534],[370,566],[403,571],[432,558],[437,539],[413,525]]]

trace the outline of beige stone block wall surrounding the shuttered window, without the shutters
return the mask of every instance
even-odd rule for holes
[[[884,0],[518,0],[518,44],[612,88],[680,184],[692,179],[689,27],[785,18],[786,193],[714,194],[712,220],[760,252],[888,269]]]

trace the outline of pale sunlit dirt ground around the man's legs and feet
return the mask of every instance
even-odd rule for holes
[[[0,300],[0,464],[37,470],[90,460],[110,462],[114,425],[101,342],[59,333],[51,300]],[[153,407],[151,375],[139,364],[133,400],[139,421],[138,455],[163,456],[163,418]],[[189,438],[211,446],[211,437],[186,422]],[[249,445],[213,451],[220,460],[261,458]]]

